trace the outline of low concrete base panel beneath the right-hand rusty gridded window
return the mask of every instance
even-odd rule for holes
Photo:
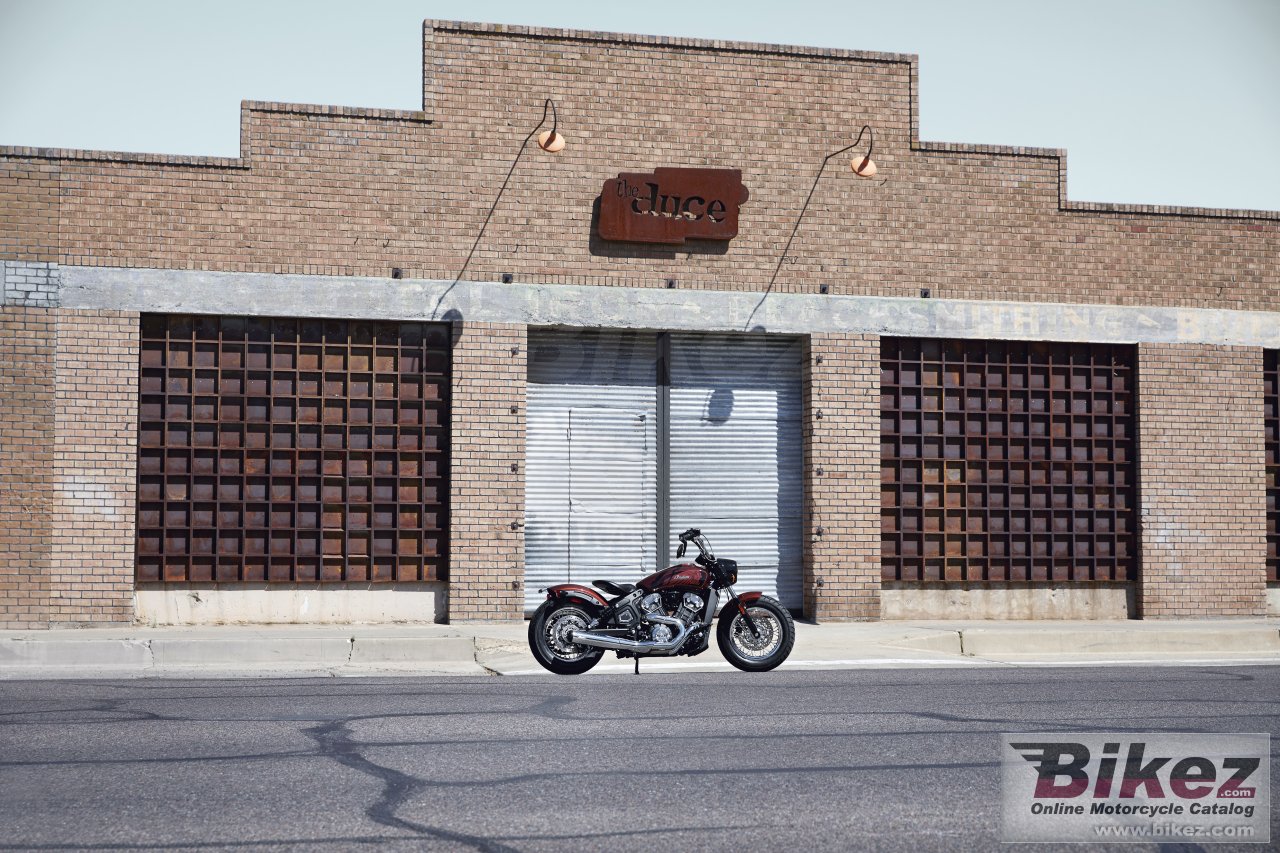
[[[884,584],[881,619],[1134,619],[1129,585]]]

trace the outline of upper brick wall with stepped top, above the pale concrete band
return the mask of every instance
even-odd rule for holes
[[[760,289],[822,158],[870,123],[879,175],[832,161],[774,291],[1280,306],[1280,216],[1068,202],[1060,151],[920,142],[909,56],[479,24],[425,47],[430,115],[251,104],[238,160],[9,150],[0,209],[56,210],[65,264],[452,278],[554,96],[568,145],[521,159],[471,278]],[[741,168],[739,237],[594,240],[603,182],[655,165]],[[41,223],[0,254],[44,251]]]

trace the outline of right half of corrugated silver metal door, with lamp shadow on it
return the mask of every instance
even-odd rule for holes
[[[739,589],[801,607],[801,348],[758,336],[671,336],[671,524],[739,562]],[[673,556],[673,546],[672,556]]]

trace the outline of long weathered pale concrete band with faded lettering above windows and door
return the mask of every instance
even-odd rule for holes
[[[63,266],[61,305],[532,327],[1280,347],[1280,313]]]

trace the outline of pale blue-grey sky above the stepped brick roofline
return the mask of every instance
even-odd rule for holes
[[[1280,0],[0,0],[0,145],[234,156],[241,100],[420,109],[424,18],[918,54],[924,140],[1280,210]]]

